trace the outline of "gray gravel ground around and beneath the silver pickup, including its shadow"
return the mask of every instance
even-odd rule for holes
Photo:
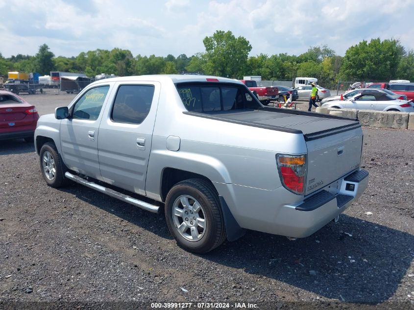
[[[77,184],[48,187],[34,147],[2,141],[0,309],[22,308],[16,301],[413,309],[414,132],[364,133],[369,187],[338,223],[296,241],[249,231],[204,256],[177,247],[163,215]]]

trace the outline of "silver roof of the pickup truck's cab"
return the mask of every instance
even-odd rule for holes
[[[99,82],[109,82],[109,81],[165,81],[166,79],[170,79],[173,83],[180,83],[180,82],[215,82],[215,81],[208,81],[207,79],[217,79],[216,82],[230,82],[230,83],[238,83],[243,84],[239,80],[226,78],[226,77],[219,77],[219,76],[212,76],[212,75],[195,75],[195,74],[153,74],[153,75],[134,75],[134,76],[119,76],[113,78],[107,78],[103,80],[99,80]]]

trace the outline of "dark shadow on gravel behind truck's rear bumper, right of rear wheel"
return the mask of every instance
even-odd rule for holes
[[[413,235],[341,215],[308,238],[249,231],[203,258],[321,297],[369,303],[393,296],[414,259],[413,245]]]

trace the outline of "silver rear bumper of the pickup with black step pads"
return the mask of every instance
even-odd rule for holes
[[[368,172],[359,170],[294,203],[301,196],[287,193],[284,188],[264,191],[233,186],[230,191],[236,195],[236,201],[228,205],[242,228],[304,238],[350,207],[367,186]]]

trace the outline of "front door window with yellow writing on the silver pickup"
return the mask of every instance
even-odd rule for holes
[[[73,108],[73,119],[96,120],[108,94],[109,86],[95,87],[83,94]]]

